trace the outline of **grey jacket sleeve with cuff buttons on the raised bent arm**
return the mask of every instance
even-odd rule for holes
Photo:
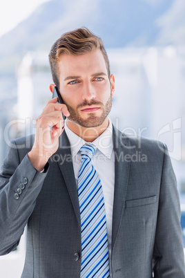
[[[16,142],[12,146],[0,174],[0,255],[19,244],[48,172],[37,172],[27,154],[20,161]]]

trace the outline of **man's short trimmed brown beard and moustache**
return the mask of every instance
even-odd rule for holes
[[[70,116],[68,117],[69,120],[81,125],[81,127],[87,127],[87,128],[88,127],[99,127],[104,122],[104,120],[106,119],[108,114],[110,113],[110,109],[112,107],[112,95],[110,93],[110,97],[108,98],[108,101],[106,102],[105,106],[102,102],[97,102],[96,100],[91,100],[90,102],[88,102],[86,100],[82,104],[79,104],[77,106],[77,109],[73,109],[67,103],[65,103],[65,104],[70,113]],[[97,104],[97,105],[101,106],[101,109],[103,109],[103,111],[101,112],[101,115],[96,116],[95,113],[88,113],[88,118],[86,118],[86,120],[81,118],[81,116],[79,115],[78,109],[80,109],[83,106],[93,105],[93,104]]]

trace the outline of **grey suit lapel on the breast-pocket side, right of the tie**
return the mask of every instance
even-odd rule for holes
[[[130,162],[126,162],[125,159],[126,155],[130,154],[128,138],[123,137],[123,133],[121,133],[114,126],[113,143],[115,151],[115,194],[113,205],[112,250],[114,248],[115,240],[119,230],[119,223],[121,221],[121,217],[124,214],[124,203],[130,169]]]

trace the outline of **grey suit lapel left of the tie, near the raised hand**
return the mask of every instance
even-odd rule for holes
[[[57,150],[59,157],[62,157],[62,160],[59,162],[59,167],[61,173],[66,182],[66,187],[68,189],[72,205],[77,216],[77,221],[79,227],[81,227],[80,212],[79,212],[79,198],[77,193],[77,185],[75,182],[75,174],[72,165],[72,156],[70,151],[70,142],[64,131],[59,138],[59,149]]]

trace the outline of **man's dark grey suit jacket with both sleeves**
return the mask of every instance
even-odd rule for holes
[[[79,201],[68,138],[64,131],[46,173],[28,159],[32,140],[14,140],[3,163],[0,254],[17,247],[28,224],[21,277],[79,278]],[[179,197],[166,146],[129,138],[115,127],[113,142],[113,278],[184,278]]]

